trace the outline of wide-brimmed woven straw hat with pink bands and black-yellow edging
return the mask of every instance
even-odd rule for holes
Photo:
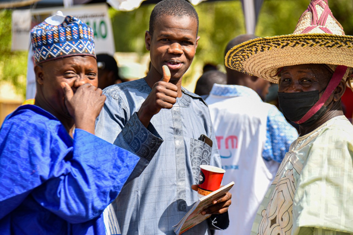
[[[310,63],[327,64],[333,71],[337,65],[353,67],[353,37],[345,35],[328,0],[312,0],[293,34],[249,40],[225,57],[227,67],[274,83],[284,66]],[[347,69],[343,79],[351,73]]]

